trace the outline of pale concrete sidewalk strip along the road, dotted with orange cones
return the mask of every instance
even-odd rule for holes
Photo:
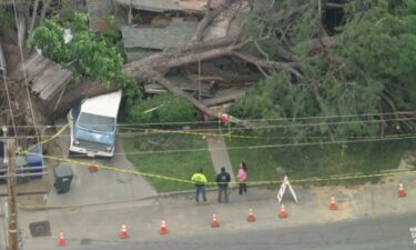
[[[89,239],[119,241],[119,230],[126,223],[131,241],[170,240],[177,237],[190,237],[232,232],[240,230],[261,230],[266,228],[298,227],[304,224],[332,223],[407,213],[416,211],[416,174],[384,178],[378,184],[362,187],[308,187],[295,186],[300,203],[291,197],[284,197],[288,213],[287,219],[280,219],[276,190],[248,187],[246,196],[232,191],[230,203],[217,203],[216,192],[209,193],[205,204],[194,204],[193,196],[170,196],[135,202],[114,203],[109,206],[89,206],[71,209],[42,211],[22,211],[21,226],[31,221],[51,221],[52,236],[31,238],[26,228],[26,246],[55,244],[60,231],[64,231],[69,244],[79,244]],[[407,197],[397,197],[397,184],[403,181]],[[276,187],[277,188],[277,187]],[[331,197],[337,200],[338,210],[328,209]],[[254,210],[256,221],[246,221],[248,209]],[[216,212],[219,229],[211,229],[212,214]],[[161,219],[166,220],[169,236],[161,237]],[[414,223],[415,221],[409,221]]]

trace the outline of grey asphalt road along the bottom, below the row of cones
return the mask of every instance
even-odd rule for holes
[[[152,241],[81,241],[71,242],[75,250],[414,250],[409,228],[416,227],[416,213],[364,219],[297,228],[253,229],[226,232],[221,228],[190,238],[161,236]],[[27,250],[42,248],[42,239],[26,244]],[[45,242],[50,246],[50,242]],[[416,243],[416,242],[415,242]],[[69,246],[68,246],[69,247]]]

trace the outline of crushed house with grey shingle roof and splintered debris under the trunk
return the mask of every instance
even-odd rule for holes
[[[217,4],[217,0],[211,1],[211,8]],[[94,30],[105,29],[105,18],[111,12],[118,14],[118,20],[123,18],[118,24],[126,61],[132,62],[192,43],[199,22],[206,12],[206,0],[87,0],[87,9],[91,17],[90,26]],[[206,39],[224,36],[231,17],[232,13],[220,17],[209,30]],[[225,58],[212,63],[226,68],[235,64],[235,61]],[[196,63],[190,68],[172,69],[165,77],[209,107],[242,98],[250,87],[247,82],[233,83],[205,69],[205,66]],[[144,91],[158,94],[168,90],[156,82],[148,81]]]

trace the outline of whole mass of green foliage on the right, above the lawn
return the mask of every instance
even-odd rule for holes
[[[266,133],[284,133],[303,141],[307,136],[343,140],[379,134],[385,128],[382,122],[374,122],[379,116],[363,114],[415,110],[415,1],[352,1],[346,8],[345,24],[333,38],[336,46],[313,58],[305,42],[318,36],[312,13],[303,13],[285,36],[302,62],[297,69],[303,78],[288,71],[273,73],[230,113],[264,119],[261,122],[271,126]],[[274,29],[278,33],[283,27],[276,23]],[[247,32],[255,33],[253,30]],[[392,123],[392,118],[384,119]]]

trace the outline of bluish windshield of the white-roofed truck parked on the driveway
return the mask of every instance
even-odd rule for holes
[[[103,131],[103,132],[112,132],[114,131],[115,119],[111,117],[102,117],[91,113],[81,113],[80,119],[78,120],[78,124],[82,128],[95,130],[95,131]]]

